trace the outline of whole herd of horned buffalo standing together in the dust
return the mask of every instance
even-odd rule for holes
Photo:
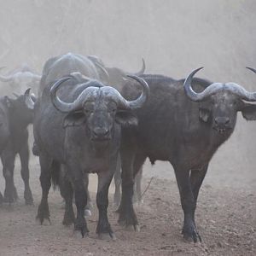
[[[41,167],[42,198],[36,217],[41,224],[50,221],[49,189],[58,186],[65,201],[62,224],[74,224],[75,233],[88,236],[84,218],[90,209],[88,175],[96,173],[99,238],[115,239],[108,222],[113,177],[119,224],[139,230],[133,203],[134,197],[142,201],[142,168],[148,158],[152,164],[171,163],[183,208],[183,237],[201,241],[195,208],[212,155],[234,131],[237,112],[256,120],[256,92],[235,83],[194,78],[201,68],[176,80],[145,74],[144,60],[140,71],[128,73],[106,66],[95,55],[68,53],[49,58],[42,75],[27,65],[0,75],[7,95],[0,99],[5,178],[0,203],[13,203],[18,197],[14,169],[19,154],[24,198],[26,204],[33,204],[28,169],[28,125],[32,124],[32,152]]]

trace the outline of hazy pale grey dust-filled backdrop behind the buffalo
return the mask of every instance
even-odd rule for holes
[[[254,0],[9,0],[0,1],[0,73],[27,63],[42,72],[51,56],[97,55],[109,67],[185,78],[196,67],[212,82],[256,91]],[[2,85],[1,85],[2,86]],[[170,165],[145,175],[173,178]],[[214,156],[207,183],[256,183],[256,121],[239,114],[236,131]],[[243,184],[244,187],[244,184]]]

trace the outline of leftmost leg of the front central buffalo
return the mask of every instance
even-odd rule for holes
[[[49,220],[48,194],[49,188],[51,186],[50,178],[53,160],[43,154],[40,154],[39,161],[41,166],[40,183],[42,188],[42,199],[40,205],[38,206],[37,219],[40,221],[41,224],[43,224],[44,219]]]

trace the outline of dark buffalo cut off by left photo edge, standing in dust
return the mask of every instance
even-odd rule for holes
[[[13,202],[17,199],[14,183],[15,156],[20,155],[21,177],[25,184],[24,198],[26,204],[33,203],[32,192],[29,186],[29,149],[27,126],[32,123],[33,111],[31,102],[26,102],[25,95],[11,99],[8,96],[0,100],[1,112],[1,139],[0,152],[5,177],[4,198],[0,201]]]

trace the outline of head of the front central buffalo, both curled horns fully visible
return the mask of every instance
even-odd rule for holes
[[[134,101],[125,100],[119,91],[111,86],[103,86],[96,80],[88,79],[88,82],[84,83],[85,89],[74,102],[62,102],[57,96],[57,90],[63,82],[72,77],[58,80],[51,87],[50,97],[56,109],[67,113],[64,127],[86,123],[90,139],[99,142],[108,141],[113,137],[114,122],[120,125],[137,125],[137,119],[131,110],[143,106],[148,99],[149,88],[143,79],[130,77],[143,86],[141,96]]]

